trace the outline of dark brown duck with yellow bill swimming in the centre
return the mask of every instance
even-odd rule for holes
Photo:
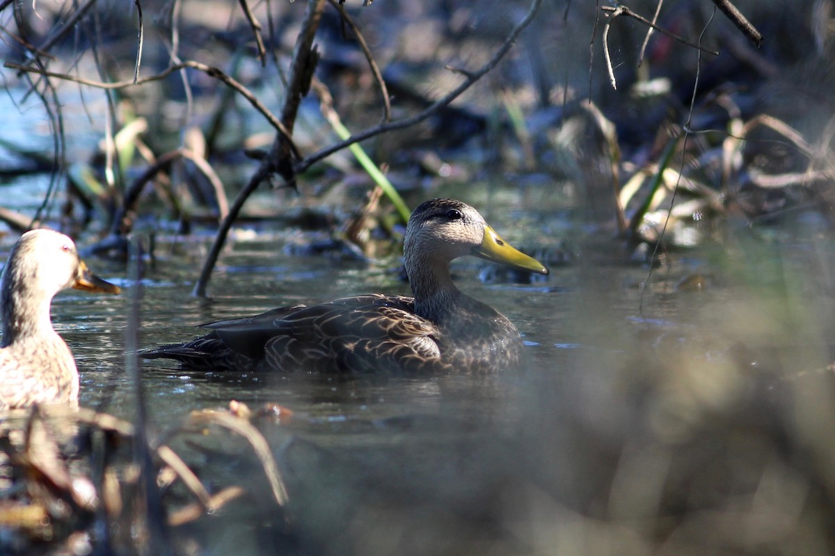
[[[474,255],[529,273],[549,269],[499,237],[466,203],[435,198],[412,213],[403,238],[413,296],[369,293],[281,307],[200,325],[210,333],[142,353],[202,371],[495,373],[519,364],[519,331],[456,288],[455,258]]]

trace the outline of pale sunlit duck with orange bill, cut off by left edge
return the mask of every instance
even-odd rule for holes
[[[78,368],[50,318],[53,297],[66,288],[120,292],[90,272],[63,233],[46,228],[24,233],[0,278],[0,410],[35,403],[78,407]]]

